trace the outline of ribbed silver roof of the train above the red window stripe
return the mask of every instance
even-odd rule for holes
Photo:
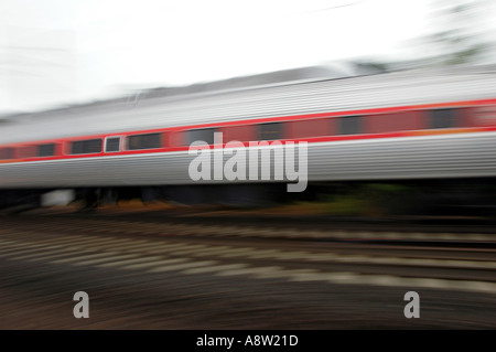
[[[0,124],[0,143],[496,98],[496,65],[374,73],[351,76],[353,72],[301,68],[147,89],[118,99],[11,116]]]

